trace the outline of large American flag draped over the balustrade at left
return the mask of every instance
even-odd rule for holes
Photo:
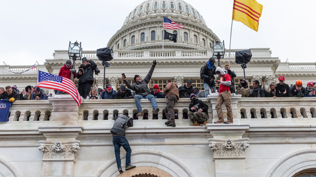
[[[81,105],[82,100],[74,83],[65,77],[38,71],[37,87],[54,89],[66,92],[72,96],[74,101]]]

